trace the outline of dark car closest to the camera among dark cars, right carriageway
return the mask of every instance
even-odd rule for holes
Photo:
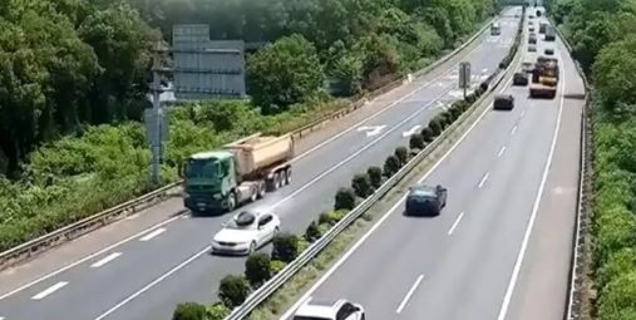
[[[439,216],[446,207],[448,189],[440,186],[417,184],[411,187],[406,197],[406,214],[422,216]]]

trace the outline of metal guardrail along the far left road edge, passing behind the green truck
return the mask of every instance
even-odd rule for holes
[[[489,20],[488,24],[494,19],[495,18]],[[425,73],[429,73],[435,67],[438,67],[440,64],[448,61],[449,59],[457,55],[457,53],[464,50],[466,46],[470,45],[478,36],[480,36],[480,34],[483,33],[483,31],[485,31],[485,29],[488,27],[488,24],[482,27],[480,31],[476,32],[476,34],[474,34],[473,37],[467,40],[466,43],[459,46],[459,48],[453,50],[453,52],[451,53],[448,53],[448,55],[445,55],[445,57],[425,67],[421,71],[418,71],[418,73],[416,73],[418,74],[417,76],[422,76]],[[301,127],[300,129],[293,130],[293,132],[291,132],[293,139],[301,139],[308,133],[323,127],[325,123],[338,118],[342,118],[342,116],[348,115],[352,111],[361,108],[362,106],[364,106],[364,103],[366,103],[366,101],[369,101],[370,99],[373,99],[374,97],[377,97],[379,95],[385,94],[386,92],[399,87],[399,85],[402,85],[405,78],[408,77],[399,77],[397,80],[384,85],[382,88],[378,88],[370,94],[363,95],[363,97],[361,97],[361,99],[359,99],[358,101],[352,102],[348,108],[334,111],[333,113],[323,116],[315,122],[310,123],[309,125]],[[4,270],[5,268],[29,260],[32,257],[41,254],[52,247],[59,246],[64,242],[76,239],[81,235],[85,235],[86,233],[92,232],[93,230],[96,230],[102,226],[109,225],[110,223],[125,218],[126,216],[135,214],[136,212],[139,212],[142,209],[146,209],[151,205],[155,205],[156,203],[170,197],[170,193],[178,193],[178,189],[181,188],[181,184],[183,184],[183,180],[179,180],[166,186],[162,186],[157,190],[141,195],[140,197],[134,198],[133,200],[129,200],[127,202],[124,202],[123,204],[116,205],[115,207],[94,214],[93,216],[81,219],[76,223],[65,226],[53,232],[47,233],[46,235],[42,235],[41,237],[25,242],[24,244],[13,247],[7,251],[4,251],[0,253],[0,270]]]

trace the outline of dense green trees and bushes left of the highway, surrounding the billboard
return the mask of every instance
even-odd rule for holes
[[[0,251],[156,187],[148,183],[141,118],[149,106],[150,48],[172,23],[209,23],[214,39],[269,44],[247,59],[251,100],[174,108],[164,183],[178,179],[190,153],[256,130],[294,129],[343,106],[336,98],[426,66],[466,39],[494,6],[493,0],[3,1]]]

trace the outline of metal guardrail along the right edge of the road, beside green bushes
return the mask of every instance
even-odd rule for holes
[[[550,20],[550,24],[555,27],[556,33],[558,37],[567,48],[568,53],[572,53],[572,46],[567,41],[567,38],[563,35],[563,32],[558,25],[555,24],[555,21],[552,18],[548,18]],[[576,204],[576,222],[574,228],[574,247],[572,248],[572,267],[570,268],[570,288],[569,294],[567,296],[567,303],[565,306],[565,319],[567,320],[577,320],[577,319],[585,319],[586,314],[583,314],[583,275],[584,275],[584,251],[585,247],[588,246],[588,239],[586,239],[586,234],[590,230],[591,225],[591,202],[590,202],[590,192],[592,190],[592,181],[591,181],[591,145],[590,145],[590,137],[591,137],[591,123],[590,123],[590,108],[591,108],[591,87],[588,79],[581,68],[581,64],[578,61],[574,60],[574,65],[576,66],[576,72],[579,74],[581,79],[583,79],[583,85],[585,87],[585,105],[583,107],[583,115],[581,116],[581,155],[580,155],[580,166],[581,172],[579,173],[579,190]]]

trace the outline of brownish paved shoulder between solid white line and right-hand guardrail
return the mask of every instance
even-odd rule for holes
[[[567,78],[566,94],[584,94],[583,80],[563,43],[557,43]],[[578,197],[581,116],[584,101],[563,100],[562,129],[555,162],[548,175],[539,219],[530,238],[526,263],[508,319],[562,319],[569,294],[570,268]]]

